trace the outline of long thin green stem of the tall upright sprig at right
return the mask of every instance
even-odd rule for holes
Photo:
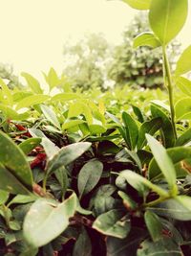
[[[174,107],[174,100],[173,100],[173,82],[172,82],[172,75],[170,70],[169,60],[166,54],[166,47],[162,47],[162,56],[163,56],[163,71],[164,71],[164,84],[168,89],[168,96],[169,96],[169,103],[170,103],[170,112],[171,112],[171,122],[173,131],[175,134],[175,138],[177,139],[177,130],[175,125],[175,107]]]

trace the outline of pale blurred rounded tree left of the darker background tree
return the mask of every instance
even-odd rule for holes
[[[104,89],[108,82],[106,66],[112,54],[111,45],[102,34],[88,34],[73,45],[65,44],[63,55],[63,73],[72,81],[74,88]]]

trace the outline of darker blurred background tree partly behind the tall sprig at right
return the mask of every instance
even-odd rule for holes
[[[149,31],[147,15],[138,14],[123,33],[123,42],[115,48],[114,61],[108,67],[108,77],[118,85],[129,83],[134,87],[162,87],[161,50],[152,52],[148,47],[133,49],[133,38]],[[180,44],[171,44],[171,63],[180,53]]]

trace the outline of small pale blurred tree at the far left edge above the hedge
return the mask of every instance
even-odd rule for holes
[[[0,78],[7,80],[7,84],[11,89],[14,86],[22,86],[18,77],[13,74],[13,68],[9,64],[0,63]]]

